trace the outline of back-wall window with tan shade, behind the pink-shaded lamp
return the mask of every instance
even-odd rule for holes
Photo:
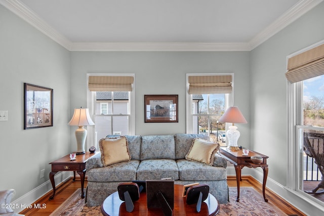
[[[232,98],[232,74],[187,75],[187,133],[207,133],[226,142],[226,124],[218,120]]]

